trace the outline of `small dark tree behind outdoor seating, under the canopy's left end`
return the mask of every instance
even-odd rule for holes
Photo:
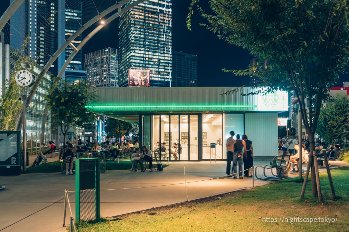
[[[132,124],[121,120],[108,118],[106,121],[105,131],[109,138],[116,137],[120,138],[129,133],[132,129]]]

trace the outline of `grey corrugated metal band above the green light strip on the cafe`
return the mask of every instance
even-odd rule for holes
[[[222,95],[236,87],[119,87],[94,89],[99,103],[120,105],[120,103],[149,105],[258,105],[258,95],[241,96],[249,93],[250,87],[243,88],[229,95]],[[91,105],[98,105],[98,102]],[[238,110],[242,110],[241,108]],[[257,107],[243,110],[257,111]]]

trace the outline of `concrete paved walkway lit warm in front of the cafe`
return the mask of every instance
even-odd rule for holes
[[[266,164],[254,162],[256,166]],[[224,176],[225,166],[226,162],[222,161],[172,162],[161,172],[101,173],[101,216],[116,216],[252,187],[252,177],[212,179]],[[267,183],[254,180],[254,186]],[[66,231],[62,228],[64,191],[75,190],[75,175],[0,176],[0,184],[6,186],[0,191],[1,232]],[[75,192],[69,192],[69,200],[75,218]],[[66,224],[69,217],[68,209]]]

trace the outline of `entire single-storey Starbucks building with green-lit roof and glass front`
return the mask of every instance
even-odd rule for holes
[[[155,150],[165,142],[171,161],[226,159],[231,130],[248,136],[254,156],[276,155],[277,113],[288,109],[287,93],[241,96],[250,91],[243,88],[221,95],[232,88],[100,88],[88,109],[138,124],[139,143]]]

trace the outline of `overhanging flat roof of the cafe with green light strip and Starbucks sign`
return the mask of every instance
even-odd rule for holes
[[[139,114],[195,114],[282,112],[288,110],[284,91],[247,95],[257,88],[243,87],[107,87],[93,88],[96,101],[89,111],[138,124]]]

